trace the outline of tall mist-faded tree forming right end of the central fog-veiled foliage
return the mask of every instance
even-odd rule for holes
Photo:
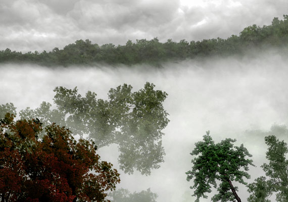
[[[162,103],[167,93],[154,90],[154,87],[154,84],[146,83],[143,89],[130,96],[125,95],[125,99],[130,100],[126,107],[131,108],[121,115],[120,133],[117,133],[116,139],[121,152],[120,168],[127,173],[133,173],[132,168],[135,167],[142,174],[150,174],[150,168],[157,169],[164,162],[161,141],[164,133],[161,131],[169,120]]]

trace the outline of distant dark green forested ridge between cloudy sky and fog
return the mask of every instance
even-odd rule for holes
[[[168,39],[159,42],[140,39],[136,43],[128,40],[125,45],[112,43],[98,45],[90,40],[77,40],[63,49],[55,47],[53,51],[38,53],[11,51],[9,48],[0,51],[0,63],[32,63],[43,66],[70,66],[93,64],[125,64],[134,65],[149,63],[158,65],[162,62],[193,59],[205,56],[230,56],[243,54],[252,47],[267,48],[285,47],[288,44],[288,15],[283,20],[274,18],[271,25],[263,27],[248,26],[237,35],[227,39],[212,38],[202,41],[179,42]]]

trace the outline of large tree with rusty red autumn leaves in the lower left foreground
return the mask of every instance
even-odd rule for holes
[[[0,120],[1,201],[104,201],[120,182],[93,142],[55,123],[43,131],[38,119],[14,118]]]

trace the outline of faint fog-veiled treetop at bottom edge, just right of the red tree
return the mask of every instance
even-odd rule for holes
[[[150,191],[130,193],[128,189],[118,189],[113,191],[110,196],[113,197],[111,202],[156,202],[157,194]]]

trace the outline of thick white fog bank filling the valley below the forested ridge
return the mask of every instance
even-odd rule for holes
[[[288,59],[278,53],[270,51],[241,59],[188,60],[163,64],[163,68],[1,65],[0,104],[12,102],[19,112],[26,107],[39,107],[42,101],[53,103],[56,86],[77,86],[82,95],[91,90],[98,98],[106,99],[110,88],[123,83],[131,84],[134,91],[146,81],[154,83],[156,89],[168,93],[164,102],[170,114],[163,136],[165,162],[151,176],[137,172],[129,176],[118,169],[121,183],[117,187],[131,192],[150,187],[158,194],[159,202],[193,201],[193,190],[189,189],[193,182],[186,181],[185,172],[191,169],[189,153],[207,130],[216,142],[231,137],[237,139],[236,144],[244,143],[257,165],[250,170],[250,181],[263,174],[260,166],[267,148],[264,136],[269,133],[261,131],[268,132],[274,126],[277,133],[277,125],[288,122]],[[287,135],[279,138],[288,140]],[[102,160],[119,168],[116,145],[101,148],[99,153]],[[246,201],[245,186],[239,187],[238,195]]]

